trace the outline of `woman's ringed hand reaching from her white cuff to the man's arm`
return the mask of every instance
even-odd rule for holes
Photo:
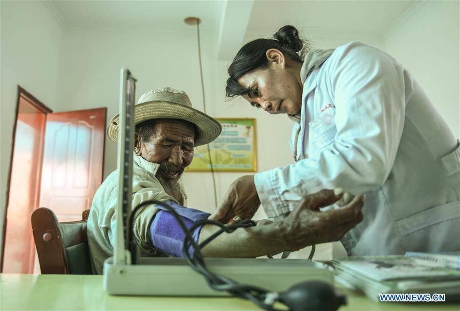
[[[241,220],[251,219],[259,206],[260,200],[255,188],[254,176],[242,176],[232,182],[221,204],[209,220],[226,224],[233,223],[232,218],[235,216]]]

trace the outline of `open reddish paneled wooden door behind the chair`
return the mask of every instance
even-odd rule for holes
[[[81,220],[102,182],[106,108],[47,115],[40,206]]]

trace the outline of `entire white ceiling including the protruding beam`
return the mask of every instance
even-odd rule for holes
[[[202,20],[200,29],[216,38],[218,59],[232,57],[246,34],[267,36],[284,25],[301,33],[382,36],[405,12],[423,1],[332,0],[163,0],[43,1],[64,29],[189,27],[184,18]]]

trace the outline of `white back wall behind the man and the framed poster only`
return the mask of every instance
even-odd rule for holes
[[[259,170],[291,162],[287,117],[260,113],[242,100],[225,101],[227,62],[215,57],[213,34],[202,33],[203,70],[208,114],[215,117],[257,118]],[[107,107],[110,119],[118,112],[119,70],[128,67],[138,79],[136,98],[150,89],[170,86],[186,91],[195,108],[203,110],[196,29],[181,32],[116,29],[71,29],[62,40],[57,92],[58,110]],[[275,148],[273,141],[282,147]],[[270,156],[268,156],[270,155]],[[104,176],[116,168],[116,145],[106,141]],[[240,173],[215,173],[217,197]],[[184,174],[188,205],[214,209],[209,173]],[[203,192],[203,188],[208,189]]]

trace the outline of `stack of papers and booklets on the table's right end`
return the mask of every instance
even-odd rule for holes
[[[336,280],[379,300],[385,293],[446,294],[460,298],[460,271],[409,256],[356,256],[333,260]]]

